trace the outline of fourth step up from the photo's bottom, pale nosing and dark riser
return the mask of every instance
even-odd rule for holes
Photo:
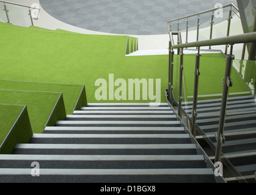
[[[51,144],[185,144],[188,134],[36,134],[30,143]]]

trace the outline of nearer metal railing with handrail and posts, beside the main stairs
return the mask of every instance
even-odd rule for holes
[[[256,42],[256,32],[251,32],[247,34],[235,35],[230,37],[223,38],[215,38],[211,40],[203,40],[196,41],[192,43],[184,43],[184,44],[174,44],[172,43],[172,36],[178,35],[177,32],[170,32],[170,41],[169,41],[169,83],[168,83],[168,91],[167,96],[170,104],[172,106],[178,107],[178,115],[182,118],[184,115],[189,118],[189,116],[185,113],[185,111],[181,108],[182,103],[182,91],[183,91],[183,49],[184,48],[197,48],[196,54],[196,65],[194,71],[194,94],[193,94],[193,103],[192,103],[192,119],[189,119],[191,122],[191,133],[194,137],[196,137],[196,131],[198,126],[196,124],[197,118],[197,98],[198,98],[198,89],[199,89],[199,76],[200,76],[200,47],[202,46],[216,46],[216,45],[230,45],[230,52],[226,56],[226,64],[225,64],[225,75],[223,81],[223,91],[222,91],[222,101],[221,101],[221,113],[219,116],[219,127],[218,133],[216,134],[216,151],[215,151],[215,162],[221,161],[222,154],[222,144],[224,143],[224,124],[225,124],[225,115],[227,111],[227,98],[229,95],[229,88],[232,87],[232,79],[230,78],[230,70],[232,68],[232,60],[235,59],[233,52],[233,45],[238,43],[255,43]],[[251,44],[255,47],[255,44]],[[179,94],[178,101],[174,99],[174,49],[180,50],[180,79],[179,79]],[[255,49],[255,48],[254,48]],[[255,50],[254,50],[255,51]],[[254,59],[255,60],[255,59]],[[201,132],[201,130],[199,130]],[[215,147],[215,146],[214,146]]]

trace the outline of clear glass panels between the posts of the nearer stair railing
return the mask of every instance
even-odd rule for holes
[[[183,122],[188,120],[191,128],[192,116],[196,113],[196,138],[211,160],[217,146],[222,90],[226,58],[219,53],[200,54],[199,69],[195,69],[196,54],[174,55],[173,91],[175,102],[179,103],[180,82],[182,81]],[[182,71],[182,80],[180,80]],[[195,83],[199,75],[197,107],[193,112]],[[222,136],[221,161],[224,163],[225,178],[232,181],[255,181],[256,171],[256,63],[249,60],[232,60],[231,85]],[[191,123],[189,123],[191,122]],[[185,122],[186,123],[186,122]],[[203,143],[207,143],[207,146]]]

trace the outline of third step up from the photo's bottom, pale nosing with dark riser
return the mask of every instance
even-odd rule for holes
[[[13,154],[196,155],[196,144],[17,144]]]

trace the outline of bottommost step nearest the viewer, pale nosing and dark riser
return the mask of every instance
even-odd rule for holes
[[[155,183],[216,182],[213,169],[40,169],[40,177],[29,169],[0,169],[0,182]]]

